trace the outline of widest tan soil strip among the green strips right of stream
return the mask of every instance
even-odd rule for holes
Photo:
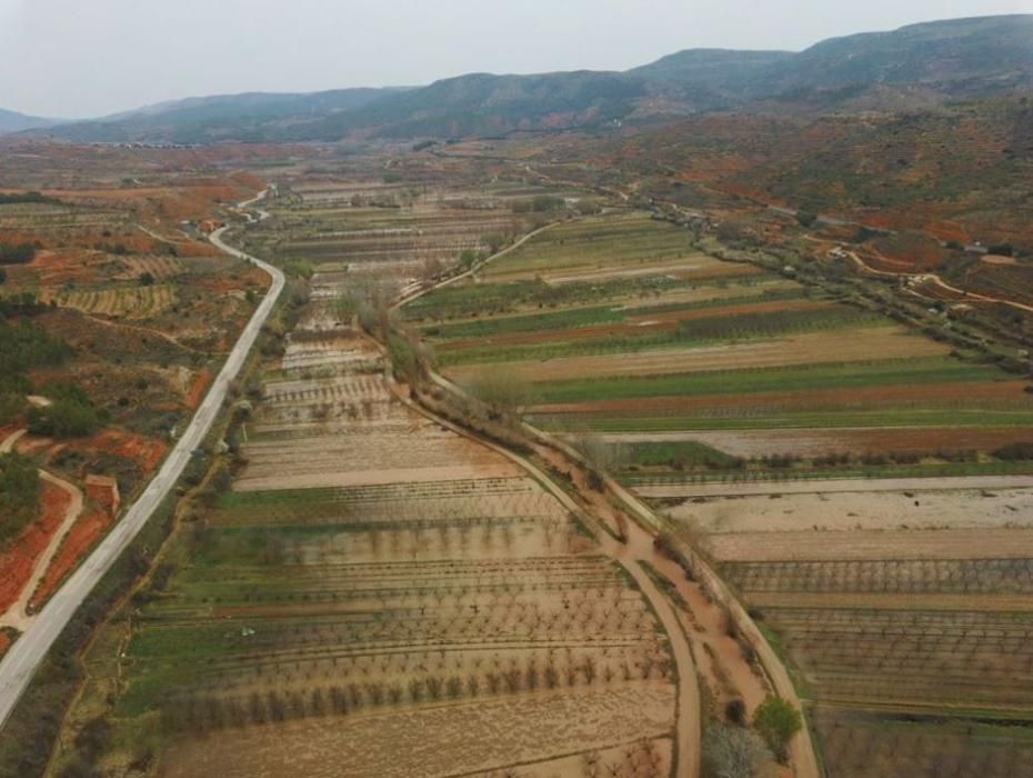
[[[448,351],[451,347],[452,345],[448,343],[441,350]],[[529,380],[549,381],[593,376],[658,376],[832,361],[903,359],[941,356],[946,355],[947,351],[947,347],[911,335],[903,328],[873,327],[850,332],[811,332],[789,338],[726,346],[638,351],[622,353],[619,359],[615,359],[613,355],[558,357],[535,362],[519,362],[515,369]],[[459,378],[480,372],[484,367],[481,363],[460,365],[449,368],[448,373]]]

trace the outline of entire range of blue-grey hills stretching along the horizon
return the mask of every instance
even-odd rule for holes
[[[473,73],[412,89],[195,98],[57,128],[78,141],[334,141],[598,130],[688,114],[913,110],[1033,91],[1033,16],[912,24],[800,53],[691,49],[624,73]]]

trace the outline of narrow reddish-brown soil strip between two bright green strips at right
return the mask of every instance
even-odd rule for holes
[[[855,389],[818,389],[812,391],[762,392],[756,395],[701,395],[695,397],[652,397],[620,398],[572,403],[545,403],[533,408],[536,413],[569,412],[614,413],[628,411],[638,415],[643,411],[703,410],[715,408],[842,408],[844,405],[899,405],[927,403],[952,400],[982,400],[1003,402],[1022,401],[1025,395],[1025,381],[970,381],[964,383],[942,383],[932,386],[885,386],[860,387]]]

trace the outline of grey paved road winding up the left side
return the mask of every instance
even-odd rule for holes
[[[242,202],[240,208],[247,208],[258,202],[264,194],[265,192],[261,192],[258,198]],[[262,213],[262,217],[264,218],[264,213]],[[122,520],[103,539],[89,559],[72,573],[71,578],[51,598],[50,602],[40,611],[39,617],[11,647],[3,660],[0,661],[0,726],[7,721],[16,702],[18,702],[32,679],[37,667],[39,667],[61,630],[68,625],[76,609],[97,586],[104,572],[114,563],[122,550],[137,536],[179,479],[180,473],[182,473],[183,468],[190,460],[192,451],[201,445],[211,428],[219,409],[222,407],[227,388],[240,371],[262,325],[265,323],[265,319],[269,318],[269,313],[280,297],[280,292],[283,291],[283,273],[271,265],[249,257],[242,251],[223,243],[222,233],[224,231],[225,228],[212,233],[212,243],[227,253],[249,260],[260,267],[272,278],[272,286],[261,303],[259,303],[258,309],[251,317],[251,321],[248,322],[240,339],[227,358],[208,396],[198,408],[183,436],[169,453],[158,475],[154,476],[140,498],[126,512]]]

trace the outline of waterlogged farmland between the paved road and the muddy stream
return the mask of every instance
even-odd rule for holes
[[[311,309],[231,489],[90,651],[58,764],[103,715],[111,775],[669,775],[670,640],[605,533]]]

